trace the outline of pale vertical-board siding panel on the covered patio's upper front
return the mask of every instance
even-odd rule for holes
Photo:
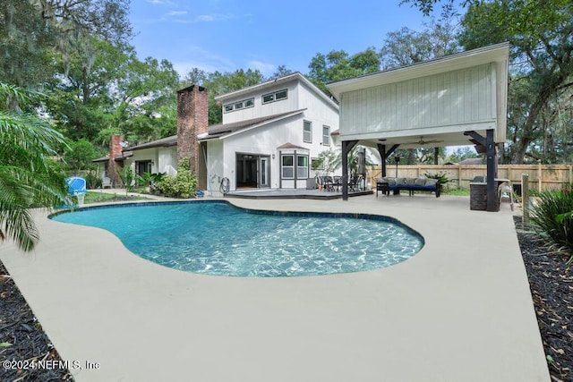
[[[341,99],[341,136],[383,137],[381,132],[422,135],[423,129],[493,129],[495,64],[350,91]]]

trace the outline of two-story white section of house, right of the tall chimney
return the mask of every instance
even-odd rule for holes
[[[300,73],[215,98],[223,123],[198,136],[206,149],[208,191],[305,188],[312,159],[333,149],[338,106]]]

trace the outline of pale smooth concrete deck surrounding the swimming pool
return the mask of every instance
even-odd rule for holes
[[[368,272],[203,276],[38,214],[38,249],[4,243],[0,259],[62,358],[80,361],[79,382],[550,380],[509,205],[470,211],[468,197],[445,195],[228,201],[393,216],[425,245]]]

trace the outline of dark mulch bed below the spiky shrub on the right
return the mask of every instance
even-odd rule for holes
[[[514,220],[552,381],[573,382],[573,266]]]

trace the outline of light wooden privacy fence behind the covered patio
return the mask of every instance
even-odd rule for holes
[[[397,166],[388,165],[386,175],[396,176]],[[485,165],[398,165],[398,177],[417,178],[423,174],[446,173],[453,182],[449,189],[469,190],[469,183],[475,176],[484,176]],[[529,189],[535,191],[560,189],[573,183],[573,166],[571,165],[499,165],[498,178],[509,179],[511,184],[521,184],[521,174],[529,175]],[[381,177],[381,166],[367,167],[367,182],[376,183]]]

